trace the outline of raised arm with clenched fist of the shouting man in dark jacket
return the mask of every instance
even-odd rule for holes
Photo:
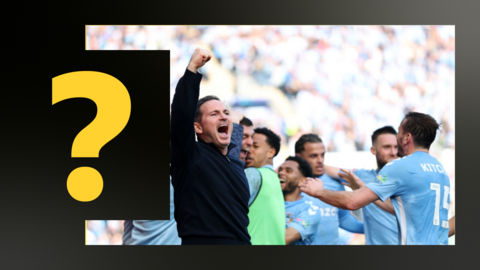
[[[195,49],[185,74],[178,81],[172,101],[171,112],[171,154],[172,163],[184,163],[193,158],[195,132],[193,123],[197,111],[200,81],[202,74],[197,73],[211,56],[207,50]]]

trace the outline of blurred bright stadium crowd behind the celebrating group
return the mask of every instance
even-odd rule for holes
[[[431,154],[449,174],[454,205],[453,25],[87,26],[86,38],[87,50],[170,50],[171,97],[199,46],[237,81],[277,89],[265,100],[261,91],[242,94],[237,82],[227,103],[281,135],[279,160],[307,132],[317,133],[327,152],[369,151],[375,129],[397,128],[409,111],[429,114],[443,122]],[[205,80],[212,72],[202,70]],[[293,113],[272,108],[282,98]]]

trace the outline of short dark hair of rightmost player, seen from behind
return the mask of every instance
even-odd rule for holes
[[[430,149],[441,124],[428,114],[409,112],[403,118],[402,125],[404,134],[412,134],[415,146]]]

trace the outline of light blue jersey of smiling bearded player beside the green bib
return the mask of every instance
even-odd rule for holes
[[[285,201],[286,228],[294,228],[302,236],[290,245],[311,245],[320,225],[319,207],[308,195],[294,202]]]

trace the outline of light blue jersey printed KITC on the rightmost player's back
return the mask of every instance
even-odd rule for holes
[[[382,201],[391,198],[401,245],[448,245],[450,180],[438,160],[415,152],[387,163],[367,184]]]

